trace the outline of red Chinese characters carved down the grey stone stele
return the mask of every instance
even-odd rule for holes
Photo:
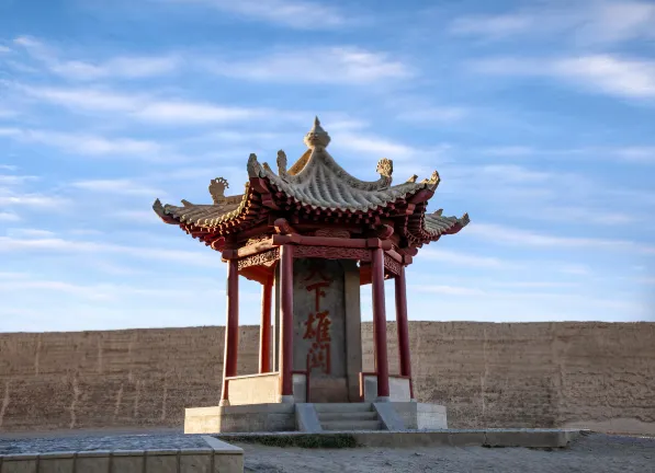
[[[307,354],[307,371],[317,368],[325,374],[330,374],[330,312],[320,310],[320,299],[325,298],[324,289],[330,287],[332,279],[325,276],[318,265],[312,267],[309,276],[305,281],[314,279],[316,276],[320,278],[318,282],[312,282],[305,288],[307,291],[315,293],[315,312],[310,313],[305,322],[305,334],[303,339],[312,341],[309,353]]]

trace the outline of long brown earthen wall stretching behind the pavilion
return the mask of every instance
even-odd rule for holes
[[[397,372],[389,323],[391,372]],[[257,370],[258,327],[239,334]],[[410,323],[415,394],[451,427],[655,432],[655,324]],[[364,370],[372,327],[362,325]],[[181,427],[218,405],[223,327],[0,334],[0,431]]]

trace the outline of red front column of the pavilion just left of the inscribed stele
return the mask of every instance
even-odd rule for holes
[[[280,246],[280,395],[293,402],[293,246]]]

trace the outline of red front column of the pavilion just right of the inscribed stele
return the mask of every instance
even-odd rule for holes
[[[375,341],[375,370],[377,372],[377,399],[388,401],[388,360],[386,357],[386,310],[384,303],[384,251],[372,252],[371,276],[373,286],[373,321]]]

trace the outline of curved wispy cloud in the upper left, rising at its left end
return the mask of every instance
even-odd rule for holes
[[[181,59],[167,57],[116,57],[104,61],[61,60],[59,51],[36,38],[20,36],[14,43],[33,59],[42,62],[50,72],[72,80],[99,80],[106,78],[138,79],[169,73],[178,68]]]

